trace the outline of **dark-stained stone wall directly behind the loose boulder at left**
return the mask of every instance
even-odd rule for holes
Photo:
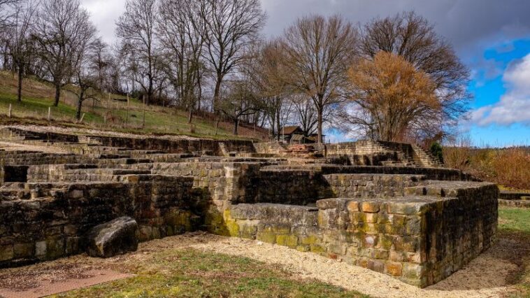
[[[141,241],[195,230],[192,183],[151,175],[124,183],[26,183],[30,197],[21,190],[22,198],[0,199],[0,267],[80,253],[89,228],[122,215],[136,218]]]

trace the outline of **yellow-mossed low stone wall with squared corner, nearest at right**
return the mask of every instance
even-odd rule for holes
[[[224,228],[425,287],[464,267],[494,239],[496,186],[449,188],[458,197],[323,199],[316,208],[238,204],[224,211]]]

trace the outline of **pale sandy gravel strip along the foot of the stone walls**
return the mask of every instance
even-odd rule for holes
[[[46,268],[57,269],[73,265],[84,269],[127,268],[128,265],[136,262],[149,260],[151,253],[175,248],[194,248],[250,257],[285,269],[292,273],[293,278],[316,279],[348,290],[357,290],[372,297],[503,297],[503,294],[513,290],[513,285],[509,285],[510,276],[518,270],[517,264],[511,262],[510,258],[528,253],[528,243],[521,244],[516,240],[501,238],[494,247],[477,257],[466,268],[436,285],[420,289],[385,274],[378,274],[313,253],[301,253],[285,246],[260,241],[197,232],[141,243],[135,253],[105,260],[77,255],[28,267],[3,269],[0,270],[0,277],[14,274],[18,275],[18,283],[31,284],[31,281],[39,280],[34,272],[46,274]],[[24,281],[24,276],[31,280]],[[60,276],[56,278],[61,279]]]

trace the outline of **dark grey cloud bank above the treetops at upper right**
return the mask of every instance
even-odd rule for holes
[[[354,23],[415,10],[464,59],[514,38],[530,38],[529,0],[262,0],[267,35],[281,34],[296,17],[339,13]],[[481,53],[482,54],[482,53]],[[471,59],[471,58],[470,58]]]

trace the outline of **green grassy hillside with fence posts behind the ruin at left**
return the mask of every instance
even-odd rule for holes
[[[16,101],[17,82],[12,73],[0,72],[0,115],[5,120],[11,104],[14,121],[27,119],[47,122],[48,108],[52,106],[55,90],[49,83],[34,79],[25,79],[22,87],[22,103]],[[263,139],[263,131],[240,127],[239,136],[231,134],[232,124],[221,122],[215,134],[215,121],[194,118],[192,125],[187,123],[187,113],[175,108],[147,106],[145,108],[145,127],[142,128],[144,107],[138,99],[119,101],[124,97],[116,94],[102,96],[99,101],[87,100],[83,103],[83,124],[99,129],[111,129],[120,132],[138,134],[184,134],[214,139]],[[76,96],[62,91],[59,106],[51,108],[51,118],[55,125],[72,125],[76,122]],[[20,119],[22,118],[22,119]]]

